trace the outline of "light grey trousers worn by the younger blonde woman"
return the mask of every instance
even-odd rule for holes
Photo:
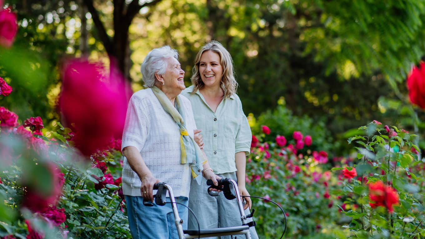
[[[218,174],[222,178],[236,180],[236,172]],[[223,192],[219,196],[210,196],[207,193],[207,180],[203,177],[201,185],[192,180],[189,193],[189,208],[195,213],[200,229],[224,228],[242,225],[241,213],[239,213],[238,202],[236,199],[227,200]],[[245,210],[245,215],[249,213],[249,208]],[[188,229],[197,230],[198,224],[195,217],[189,212]],[[252,218],[248,219],[249,222]],[[258,239],[254,227],[249,228],[252,239]],[[241,236],[238,236],[238,238]],[[220,236],[220,239],[231,239],[231,236]],[[233,236],[235,238],[235,236]],[[245,238],[243,236],[243,238]],[[215,237],[208,237],[215,239]]]

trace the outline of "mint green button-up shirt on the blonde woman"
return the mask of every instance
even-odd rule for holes
[[[190,95],[193,85],[181,92],[192,104],[196,127],[202,130],[204,152],[216,174],[236,171],[235,154],[249,155],[251,128],[236,94],[221,100],[214,112],[204,96],[197,91]]]

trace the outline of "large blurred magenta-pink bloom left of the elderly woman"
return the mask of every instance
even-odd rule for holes
[[[73,124],[76,147],[89,156],[122,137],[127,103],[132,93],[116,69],[76,59],[65,64],[59,110],[65,125]],[[78,97],[76,97],[78,96]]]

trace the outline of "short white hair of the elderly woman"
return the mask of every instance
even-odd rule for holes
[[[171,49],[170,46],[155,48],[147,54],[140,66],[144,87],[151,88],[155,85],[155,73],[159,75],[165,74],[167,70],[167,62],[165,60],[169,58],[178,60],[178,52],[175,49]]]

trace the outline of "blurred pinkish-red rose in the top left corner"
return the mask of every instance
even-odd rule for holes
[[[0,10],[0,45],[11,47],[17,31],[16,14],[9,8]]]

